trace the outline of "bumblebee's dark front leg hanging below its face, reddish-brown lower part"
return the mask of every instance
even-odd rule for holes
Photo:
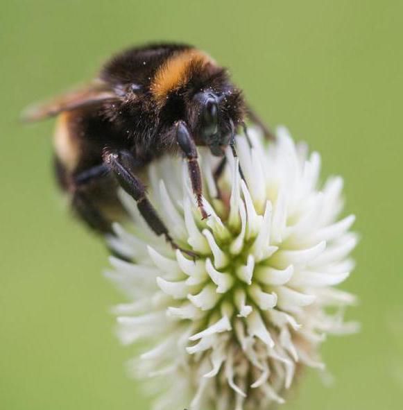
[[[189,170],[191,188],[196,195],[198,208],[202,214],[202,219],[206,219],[209,215],[207,215],[207,212],[203,205],[202,178],[200,167],[198,166],[197,162],[196,144],[194,143],[194,140],[191,139],[189,130],[187,130],[187,126],[184,121],[178,121],[175,124],[175,127],[176,141],[178,142],[178,145],[187,160],[187,168]]]

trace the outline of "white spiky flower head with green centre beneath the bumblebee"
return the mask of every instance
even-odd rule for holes
[[[157,381],[155,409],[271,409],[302,366],[323,368],[327,334],[356,330],[343,323],[354,297],[333,288],[357,244],[354,216],[338,220],[342,179],[319,185],[318,153],[284,128],[277,142],[257,130],[250,139],[252,148],[237,138],[239,160],[228,150],[219,196],[216,158],[200,149],[206,221],[182,160],[150,167],[151,200],[175,241],[200,254],[195,262],[155,237],[123,194],[133,224],[130,233],[115,225],[110,243],[134,262],[111,257],[107,275],[130,300],[115,308],[121,341],[153,346],[130,368]]]

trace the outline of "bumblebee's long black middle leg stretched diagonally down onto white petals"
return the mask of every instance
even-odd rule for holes
[[[165,239],[171,244],[173,249],[180,249],[191,257],[196,254],[188,250],[181,249],[175,241],[173,241],[168,229],[158,216],[157,211],[151,205],[147,198],[146,187],[143,182],[134,175],[133,163],[135,158],[128,151],[105,151],[103,160],[110,171],[114,174],[119,182],[119,185],[136,201],[137,208],[142,214],[148,226],[157,234],[157,236],[164,235]]]

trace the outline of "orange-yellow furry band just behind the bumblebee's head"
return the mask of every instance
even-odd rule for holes
[[[157,69],[153,78],[150,88],[157,103],[163,105],[169,92],[189,81],[190,67],[208,64],[214,64],[214,60],[203,51],[190,49],[175,53]]]

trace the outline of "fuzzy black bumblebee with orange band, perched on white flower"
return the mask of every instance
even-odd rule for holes
[[[150,44],[111,58],[86,87],[34,108],[28,120],[58,116],[55,173],[71,196],[76,214],[97,232],[112,233],[111,221],[125,211],[119,185],[135,199],[157,235],[173,242],[147,198],[140,176],[166,153],[187,160],[191,188],[203,219],[202,178],[197,146],[223,157],[234,150],[234,135],[246,117],[271,134],[248,109],[228,71],[206,53],[186,44]]]

